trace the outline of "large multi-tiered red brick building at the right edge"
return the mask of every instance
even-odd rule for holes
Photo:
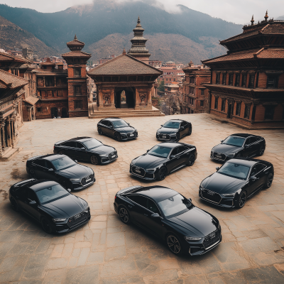
[[[284,21],[243,27],[222,40],[228,52],[204,60],[212,70],[210,113],[249,129],[284,126]]]

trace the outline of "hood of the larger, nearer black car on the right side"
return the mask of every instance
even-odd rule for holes
[[[246,184],[246,180],[231,178],[227,175],[214,173],[202,181],[202,187],[217,193],[232,193],[238,191]]]

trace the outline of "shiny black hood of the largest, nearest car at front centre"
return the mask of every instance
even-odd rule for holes
[[[192,207],[187,212],[172,217],[169,220],[182,226],[182,231],[185,231],[185,228],[190,231],[189,236],[199,237],[207,236],[213,231],[216,231],[219,224],[217,218],[198,207]]]

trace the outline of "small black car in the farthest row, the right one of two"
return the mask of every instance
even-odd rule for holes
[[[192,133],[191,123],[181,119],[170,119],[161,126],[155,134],[159,141],[179,141],[183,136]]]

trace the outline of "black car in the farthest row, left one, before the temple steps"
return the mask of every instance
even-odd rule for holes
[[[116,141],[129,140],[138,137],[138,131],[130,124],[126,123],[119,117],[102,119],[97,124],[99,135],[107,135],[113,137]]]

